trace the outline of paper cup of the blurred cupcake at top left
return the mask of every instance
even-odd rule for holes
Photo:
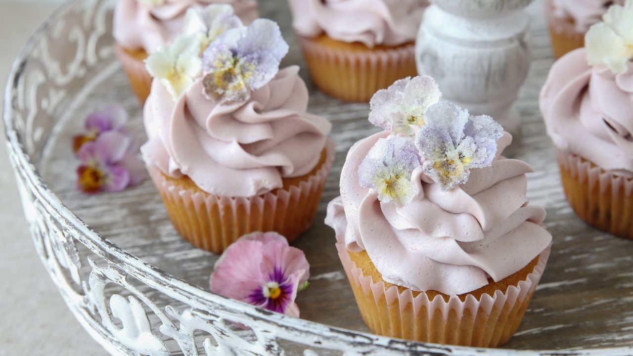
[[[132,91],[144,105],[152,86],[152,77],[147,73],[144,62],[147,53],[145,51],[129,51],[118,44],[115,45],[115,52],[127,74]]]

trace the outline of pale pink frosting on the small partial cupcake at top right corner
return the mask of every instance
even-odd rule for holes
[[[602,15],[613,3],[622,5],[624,0],[552,0],[552,15],[572,19],[576,30],[584,33],[591,25],[602,21]]]

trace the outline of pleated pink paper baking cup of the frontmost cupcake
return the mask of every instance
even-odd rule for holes
[[[549,247],[541,253],[534,270],[505,291],[482,294],[477,300],[467,295],[441,295],[430,300],[425,292],[413,296],[411,289],[399,293],[397,286],[385,290],[349,257],[341,241],[339,257],[354,291],[365,324],[375,334],[427,343],[498,347],[517,331],[549,257]]]

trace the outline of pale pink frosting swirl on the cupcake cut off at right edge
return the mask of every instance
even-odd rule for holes
[[[576,49],[549,70],[540,106],[558,149],[633,176],[633,63],[615,75],[587,65],[586,50]]]

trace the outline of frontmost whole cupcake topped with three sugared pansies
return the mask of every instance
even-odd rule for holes
[[[532,168],[501,156],[510,134],[437,100],[430,77],[376,93],[384,130],[349,150],[326,224],[373,333],[497,347],[548,259],[545,210],[525,196]]]

